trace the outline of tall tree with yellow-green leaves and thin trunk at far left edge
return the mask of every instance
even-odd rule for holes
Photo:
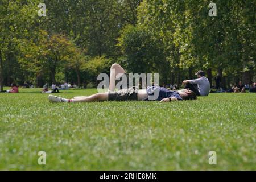
[[[3,90],[4,65],[7,59],[15,60],[16,43],[31,35],[39,19],[38,1],[0,1],[0,90]]]

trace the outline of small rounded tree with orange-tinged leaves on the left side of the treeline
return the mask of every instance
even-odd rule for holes
[[[20,44],[20,64],[23,68],[29,69],[35,75],[44,71],[49,71],[50,81],[56,82],[55,74],[57,69],[67,63],[73,63],[77,54],[77,48],[64,35],[49,35],[41,30],[38,39],[23,40]]]

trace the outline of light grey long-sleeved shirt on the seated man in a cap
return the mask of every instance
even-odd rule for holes
[[[210,82],[207,77],[202,76],[195,80],[189,80],[190,84],[197,84],[201,96],[208,96],[210,92]]]

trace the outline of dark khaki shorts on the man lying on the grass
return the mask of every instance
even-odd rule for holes
[[[137,101],[137,93],[138,88],[135,86],[117,92],[109,92],[109,101]]]

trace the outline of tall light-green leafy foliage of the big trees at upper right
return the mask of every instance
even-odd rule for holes
[[[138,26],[162,41],[172,69],[214,69],[239,76],[255,71],[255,2],[214,1],[217,17],[208,16],[208,1],[143,1]],[[254,47],[254,48],[253,48]]]

